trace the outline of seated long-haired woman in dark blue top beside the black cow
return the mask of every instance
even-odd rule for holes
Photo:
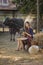
[[[24,37],[27,39],[25,40],[18,40],[18,49],[20,50],[23,48],[25,50],[25,45],[27,45],[27,50],[31,46],[31,40],[33,39],[33,29],[30,27],[30,23],[27,21],[25,23],[25,32],[23,32]]]

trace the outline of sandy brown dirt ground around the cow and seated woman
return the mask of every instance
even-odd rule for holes
[[[17,40],[10,41],[9,33],[0,33],[0,65],[43,65],[43,49],[30,55],[26,51],[15,51]]]

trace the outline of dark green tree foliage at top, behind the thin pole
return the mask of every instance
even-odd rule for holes
[[[24,14],[37,13],[37,0],[13,0],[13,2],[21,5],[19,11]],[[43,14],[43,0],[39,0],[39,11]]]

